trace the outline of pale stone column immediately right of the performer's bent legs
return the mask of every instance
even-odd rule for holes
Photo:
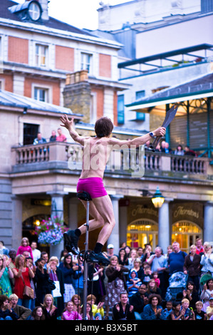
[[[123,197],[123,195],[110,195],[110,198],[113,203],[113,210],[115,216],[115,227],[113,228],[113,232],[110,235],[107,244],[112,243],[114,245],[114,252],[118,254],[119,252],[119,200]]]

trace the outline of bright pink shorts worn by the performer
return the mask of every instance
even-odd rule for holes
[[[108,195],[103,185],[103,179],[100,177],[90,177],[79,179],[77,184],[77,192],[85,191],[90,194],[90,197],[104,197]]]

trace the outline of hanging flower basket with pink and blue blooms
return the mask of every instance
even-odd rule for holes
[[[67,230],[68,228],[58,217],[53,217],[53,219],[49,217],[36,227],[35,234],[38,234],[38,243],[56,245],[62,241],[63,233]]]

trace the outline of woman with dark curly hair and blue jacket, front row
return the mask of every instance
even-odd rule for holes
[[[161,297],[158,294],[150,294],[148,304],[142,312],[143,320],[166,320],[161,304]]]

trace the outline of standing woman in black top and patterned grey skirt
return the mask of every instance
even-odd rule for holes
[[[110,264],[105,268],[105,275],[108,277],[105,285],[105,319],[108,319],[110,307],[119,302],[120,292],[125,292],[124,272],[128,272],[128,268],[118,264],[118,257],[110,257]]]

